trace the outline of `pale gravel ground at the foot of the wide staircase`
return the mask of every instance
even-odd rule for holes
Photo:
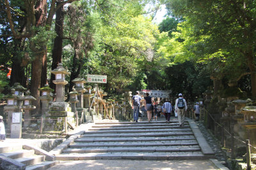
[[[76,160],[61,161],[60,164],[49,168],[50,170],[66,169],[189,169],[211,170],[218,169],[211,160]],[[49,170],[48,169],[48,170]]]

